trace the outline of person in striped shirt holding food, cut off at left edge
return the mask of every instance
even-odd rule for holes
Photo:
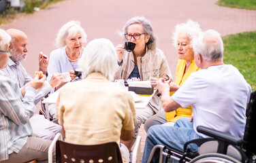
[[[7,67],[10,41],[11,36],[0,29],[0,69]],[[29,122],[35,112],[36,89],[44,85],[45,79],[36,75],[23,96],[18,84],[0,71],[0,162],[48,162],[48,147],[52,141],[32,137]]]

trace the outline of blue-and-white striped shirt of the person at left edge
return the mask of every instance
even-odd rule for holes
[[[0,73],[0,161],[9,158],[8,149],[18,153],[32,135],[35,94],[28,86],[22,97],[18,84]]]

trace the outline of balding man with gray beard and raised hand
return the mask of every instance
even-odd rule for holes
[[[31,75],[27,73],[26,69],[21,65],[21,61],[27,57],[27,44],[28,38],[25,33],[18,29],[8,29],[6,31],[11,35],[12,40],[10,41],[10,58],[7,61],[7,67],[1,69],[1,73],[6,77],[9,77],[20,86],[22,94],[25,92],[25,87],[29,86],[32,81]],[[39,54],[39,70],[46,72],[48,66],[48,58],[43,58],[42,54]],[[35,96],[35,105],[54,89],[59,82],[63,80],[63,75],[56,73],[52,75],[49,84],[42,88]],[[43,115],[35,114],[30,118],[33,134],[37,134],[42,139],[54,139],[55,134],[62,132],[62,127],[59,124],[54,124],[44,118]]]

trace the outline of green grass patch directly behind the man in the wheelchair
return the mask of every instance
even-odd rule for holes
[[[224,63],[234,65],[256,90],[256,31],[223,37]]]

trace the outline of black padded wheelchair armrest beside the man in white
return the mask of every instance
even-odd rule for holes
[[[206,134],[210,137],[214,137],[214,139],[217,139],[219,141],[224,141],[226,143],[229,143],[231,145],[242,145],[242,139],[238,139],[234,136],[231,136],[230,134],[225,134],[223,132],[212,130],[204,126],[197,126],[197,131],[202,134]]]

